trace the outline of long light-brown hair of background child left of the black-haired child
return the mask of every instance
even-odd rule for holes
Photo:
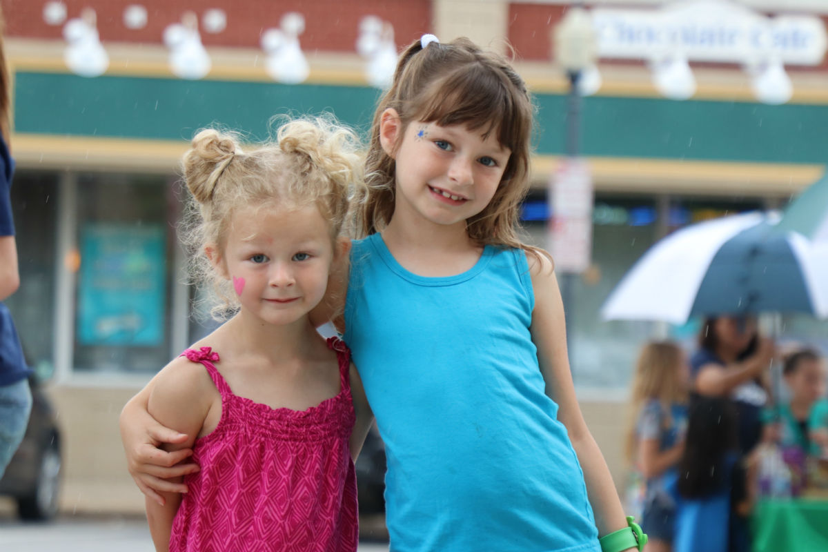
[[[636,425],[644,403],[656,399],[662,404],[665,425],[670,424],[670,404],[686,402],[687,388],[681,381],[681,348],[672,341],[647,343],[638,353],[633,375],[627,430],[627,458],[634,463],[638,438]]]

